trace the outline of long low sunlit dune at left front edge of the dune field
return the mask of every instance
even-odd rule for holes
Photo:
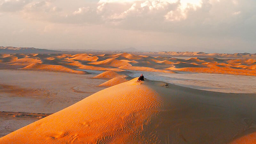
[[[67,73],[73,73],[73,74],[89,74],[85,71],[73,70],[71,68],[66,68],[60,65],[48,65],[48,64],[39,64],[39,63],[28,65],[27,67],[22,69],[67,72]]]

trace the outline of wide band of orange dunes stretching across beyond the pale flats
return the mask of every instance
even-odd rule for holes
[[[200,56],[201,52],[178,52],[181,55]],[[175,71],[255,76],[255,59],[199,58],[177,59],[163,56],[119,54],[1,54],[1,69],[24,68],[33,63],[61,65],[63,67],[124,71],[174,73]],[[122,70],[123,69],[123,70]],[[55,71],[55,70],[53,70]]]

